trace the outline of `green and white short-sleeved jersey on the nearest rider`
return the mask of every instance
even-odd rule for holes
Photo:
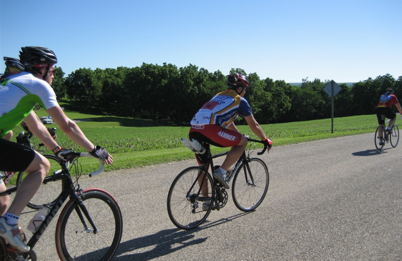
[[[45,109],[58,104],[46,81],[28,72],[5,78],[0,85],[0,138],[19,125],[37,104]]]

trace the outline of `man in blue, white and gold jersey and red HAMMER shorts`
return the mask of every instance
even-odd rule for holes
[[[251,131],[258,136],[268,149],[272,141],[267,139],[260,124],[255,120],[251,107],[243,97],[249,87],[246,76],[242,74],[230,74],[227,78],[228,89],[216,94],[210,101],[195,113],[190,124],[188,137],[193,148],[199,147],[196,140],[204,141],[217,147],[232,147],[221,167],[213,173],[214,178],[226,188],[228,169],[236,163],[247,146],[247,138],[237,129],[234,120],[242,115]],[[202,164],[197,153],[197,162]]]

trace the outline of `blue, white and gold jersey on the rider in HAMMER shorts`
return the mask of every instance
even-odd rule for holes
[[[191,125],[216,124],[226,127],[237,116],[249,116],[252,114],[247,100],[237,94],[235,90],[227,89],[215,95],[210,101],[195,113]]]

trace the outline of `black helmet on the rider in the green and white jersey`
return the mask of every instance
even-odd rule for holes
[[[33,67],[47,67],[57,63],[54,52],[45,47],[27,46],[22,47],[20,51],[20,60],[26,70]]]

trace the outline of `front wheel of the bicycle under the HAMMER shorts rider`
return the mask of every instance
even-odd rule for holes
[[[252,211],[264,200],[268,185],[268,167],[261,159],[252,158],[243,162],[233,177],[233,202],[241,211]]]

